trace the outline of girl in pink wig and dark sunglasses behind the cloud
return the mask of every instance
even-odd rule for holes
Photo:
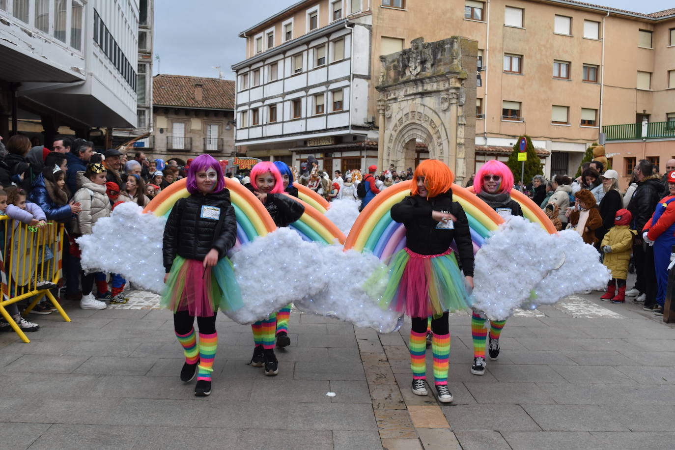
[[[512,200],[510,192],[513,188],[513,173],[508,166],[500,161],[487,161],[476,172],[473,181],[476,195],[489,204],[500,216],[522,217],[520,204]],[[491,360],[499,356],[499,335],[502,333],[506,320],[490,320],[490,331],[485,329],[487,317],[483,311],[474,311],[471,317],[471,337],[473,339],[473,364],[471,373],[482,375],[485,373],[485,338],[489,338],[487,351]]]

